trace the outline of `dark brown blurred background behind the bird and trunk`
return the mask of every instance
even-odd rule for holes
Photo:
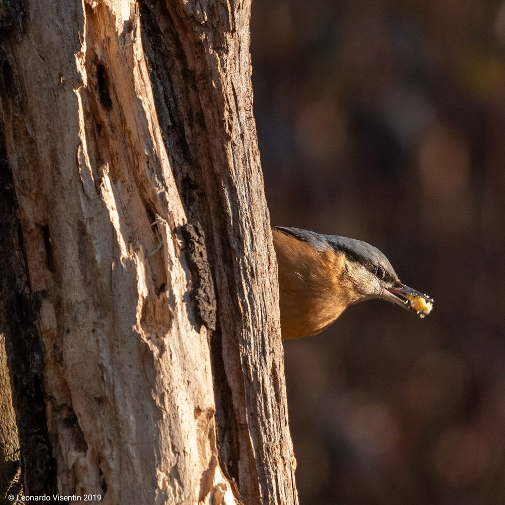
[[[254,0],[272,223],[366,240],[432,295],[286,342],[302,505],[505,503],[505,6]]]

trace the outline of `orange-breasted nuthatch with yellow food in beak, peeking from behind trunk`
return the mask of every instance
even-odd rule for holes
[[[372,298],[420,317],[433,299],[402,284],[388,259],[366,242],[299,228],[272,228],[279,268],[282,338],[315,335],[349,306]]]

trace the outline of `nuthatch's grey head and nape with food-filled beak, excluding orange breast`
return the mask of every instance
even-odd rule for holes
[[[323,235],[298,228],[278,228],[319,251],[331,249],[342,258],[337,275],[347,286],[351,304],[381,298],[416,312],[420,317],[430,313],[433,299],[402,284],[389,260],[376,247],[347,237]]]

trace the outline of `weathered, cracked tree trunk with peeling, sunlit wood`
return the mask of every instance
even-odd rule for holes
[[[249,8],[0,10],[0,322],[27,495],[297,503]]]

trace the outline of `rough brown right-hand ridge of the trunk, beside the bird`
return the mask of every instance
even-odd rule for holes
[[[210,238],[220,308],[212,352],[221,459],[246,503],[258,496],[291,503],[294,458],[252,115],[249,8],[250,2],[143,3],[142,33],[162,129],[181,168],[178,186],[190,219]]]

